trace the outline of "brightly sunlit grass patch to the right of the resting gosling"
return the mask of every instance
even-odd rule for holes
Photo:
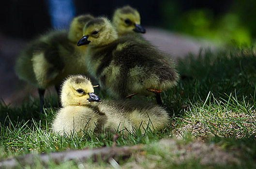
[[[218,135],[242,138],[256,135],[256,110],[249,101],[239,101],[231,94],[228,99],[216,99],[209,92],[204,103],[191,104],[179,118],[181,122],[173,130],[177,136],[190,131],[195,137]],[[211,101],[212,99],[212,101]]]

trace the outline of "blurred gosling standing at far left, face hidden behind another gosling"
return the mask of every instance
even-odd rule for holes
[[[69,32],[55,30],[34,41],[18,56],[15,65],[17,76],[39,88],[40,111],[44,105],[45,89],[55,85],[59,93],[61,81],[69,74],[88,74],[85,61],[76,42],[83,36],[82,29],[93,17],[80,15],[73,19]]]

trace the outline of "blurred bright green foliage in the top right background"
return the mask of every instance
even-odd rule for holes
[[[217,12],[207,5],[184,10],[184,4],[161,2],[164,28],[224,43],[250,44],[256,38],[256,0],[234,0]]]

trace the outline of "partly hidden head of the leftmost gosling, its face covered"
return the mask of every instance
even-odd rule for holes
[[[77,42],[81,37],[83,37],[83,28],[84,25],[90,20],[93,19],[94,17],[90,14],[83,14],[76,16],[69,28],[69,33],[68,33],[68,39],[72,42]]]

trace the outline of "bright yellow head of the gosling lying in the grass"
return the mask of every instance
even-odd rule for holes
[[[93,92],[93,86],[87,77],[71,75],[62,84],[61,104],[65,107],[69,105],[87,105],[90,101],[101,101]]]

